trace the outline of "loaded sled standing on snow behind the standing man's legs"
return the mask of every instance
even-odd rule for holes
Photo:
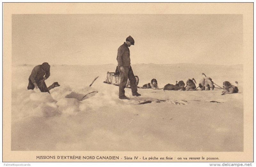
[[[136,78],[136,86],[138,86],[139,84],[139,77],[135,76]],[[116,67],[116,72],[107,72],[107,78],[106,81],[104,81],[103,83],[108,83],[108,84],[113,84],[116,86],[119,86],[119,82],[120,81],[120,72],[118,71],[117,67]],[[130,81],[129,79],[127,80],[126,83],[126,87],[130,87]]]

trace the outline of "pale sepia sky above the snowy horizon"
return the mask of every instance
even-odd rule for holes
[[[12,63],[117,64],[129,35],[132,64],[243,61],[243,15],[15,14]]]

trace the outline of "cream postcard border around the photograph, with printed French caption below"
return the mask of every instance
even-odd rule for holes
[[[219,160],[173,160],[164,162],[253,161],[253,3],[4,3],[3,24],[3,162],[100,162],[100,160],[36,160],[55,156],[218,157]],[[243,14],[244,32],[244,151],[243,152],[97,152],[11,151],[12,14]],[[123,162],[124,159],[114,162]],[[139,161],[143,160],[130,160]],[[148,160],[146,160],[148,161]],[[161,161],[161,160],[157,160]],[[148,161],[148,162],[157,162]],[[111,162],[103,160],[102,162]],[[125,161],[128,162],[128,161]]]

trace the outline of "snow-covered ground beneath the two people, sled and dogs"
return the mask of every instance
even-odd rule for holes
[[[51,94],[27,90],[33,67],[12,67],[12,150],[243,151],[242,65],[135,64],[138,86],[152,78],[160,88],[199,81],[204,72],[220,86],[238,81],[239,93],[139,89],[142,96],[133,97],[125,89],[130,100],[118,99],[118,86],[103,83],[114,64],[52,65],[46,84],[61,86]],[[135,105],[144,100],[152,103]]]

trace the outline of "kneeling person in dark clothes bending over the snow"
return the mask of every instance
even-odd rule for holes
[[[33,68],[31,75],[28,79],[28,89],[39,88],[41,92],[49,92],[47,86],[44,82],[50,76],[50,65],[47,62],[44,62],[41,65],[38,65]]]

